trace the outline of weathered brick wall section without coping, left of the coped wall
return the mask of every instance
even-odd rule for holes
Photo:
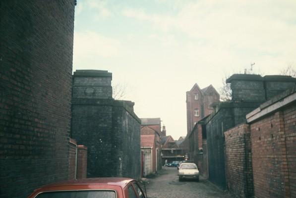
[[[224,134],[228,189],[236,198],[251,198],[254,190],[249,125],[238,125]]]

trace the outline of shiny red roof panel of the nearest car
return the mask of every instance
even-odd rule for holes
[[[129,182],[135,181],[130,178],[122,177],[100,177],[100,178],[85,178],[77,180],[68,180],[46,185],[43,188],[58,187],[58,186],[76,186],[76,185],[112,185],[124,188]]]

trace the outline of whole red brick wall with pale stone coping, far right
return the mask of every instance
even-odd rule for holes
[[[254,195],[296,197],[296,87],[246,115],[250,126]]]

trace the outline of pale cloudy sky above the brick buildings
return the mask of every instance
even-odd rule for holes
[[[296,66],[295,0],[77,0],[73,71],[108,70],[139,118],[186,136],[186,91]],[[121,88],[120,88],[121,87]]]

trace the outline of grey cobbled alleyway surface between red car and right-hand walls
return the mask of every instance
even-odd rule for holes
[[[179,182],[176,167],[163,167],[159,174],[148,178],[146,184],[148,198],[232,198],[202,178],[199,182]]]

